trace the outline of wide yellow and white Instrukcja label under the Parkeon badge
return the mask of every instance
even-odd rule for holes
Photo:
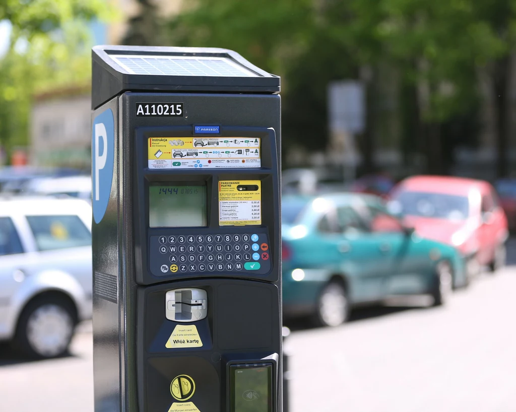
[[[259,168],[259,137],[151,137],[149,169]]]

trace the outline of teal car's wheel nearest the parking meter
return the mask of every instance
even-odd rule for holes
[[[320,326],[338,326],[346,322],[348,314],[346,289],[338,282],[330,282],[319,294],[315,323]]]

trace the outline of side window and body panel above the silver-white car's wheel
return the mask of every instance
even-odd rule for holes
[[[34,271],[60,270],[92,294],[91,232],[76,215],[26,216],[34,235],[38,265]]]

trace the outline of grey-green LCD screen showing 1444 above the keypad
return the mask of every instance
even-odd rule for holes
[[[206,225],[206,186],[149,186],[150,227]]]

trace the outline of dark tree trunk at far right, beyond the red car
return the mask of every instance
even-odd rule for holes
[[[493,93],[496,123],[496,176],[508,175],[508,105],[511,60],[506,56],[495,64],[493,73]]]

